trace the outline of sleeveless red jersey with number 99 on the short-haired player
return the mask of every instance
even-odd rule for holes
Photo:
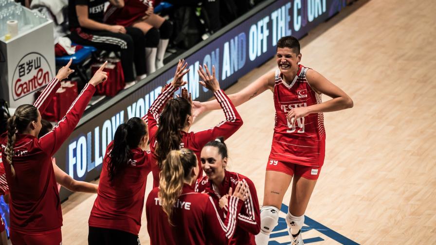
[[[275,72],[275,126],[269,164],[278,160],[320,167],[324,163],[326,141],[323,113],[309,114],[293,125],[287,119],[291,108],[322,103],[321,94],[310,88],[306,79],[309,68],[299,66],[290,85],[283,81],[280,70]]]

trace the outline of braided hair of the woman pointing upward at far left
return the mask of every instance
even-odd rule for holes
[[[16,133],[22,133],[27,126],[33,121],[38,121],[38,109],[33,105],[20,105],[12,117],[8,119],[6,128],[8,130],[8,143],[4,152],[6,153],[6,160],[11,166],[11,175],[15,177],[15,169],[13,166],[14,146],[16,140]]]

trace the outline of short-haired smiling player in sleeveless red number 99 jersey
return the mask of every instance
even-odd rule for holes
[[[275,126],[265,175],[264,201],[260,213],[261,231],[256,235],[258,245],[268,244],[292,176],[294,180],[286,221],[291,244],[303,244],[301,227],[304,224],[304,213],[324,163],[326,133],[323,112],[353,106],[353,101],[342,89],[315,70],[299,65],[300,60],[298,40],[292,36],[282,37],[277,42],[278,69],[261,76],[247,88],[229,95],[237,106],[267,89],[273,91]],[[322,102],[321,94],[332,99]],[[218,109],[213,101],[195,102],[194,117],[212,109]]]

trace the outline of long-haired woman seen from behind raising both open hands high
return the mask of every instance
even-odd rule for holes
[[[183,75],[189,71],[189,69],[184,71],[186,67],[187,63],[181,60],[177,66],[178,73],[176,72],[176,76],[182,78]],[[201,149],[207,142],[216,139],[218,136],[227,139],[242,126],[242,119],[236,111],[235,106],[224,91],[219,88],[219,83],[215,76],[215,67],[212,69],[212,75],[206,66],[205,69],[206,71],[200,67],[198,71],[200,79],[202,80],[200,84],[214,92],[218,106],[222,108],[226,119],[210,129],[196,133],[189,132],[193,120],[191,116],[192,100],[190,96],[187,95],[187,90],[182,90],[182,97],[171,99],[173,93],[180,86],[183,86],[184,83],[180,85],[171,83],[169,86],[165,87],[164,91],[150,106],[147,113],[148,128],[150,131],[150,150],[155,154],[158,161],[158,165],[152,170],[154,187],[159,183],[159,171],[162,169],[161,163],[170,150],[189,148],[193,150],[198,159],[200,159]],[[177,80],[176,77],[174,80]],[[162,108],[164,109],[162,110]],[[202,173],[199,172],[199,177],[201,175]]]

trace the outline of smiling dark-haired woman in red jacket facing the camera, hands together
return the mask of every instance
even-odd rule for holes
[[[215,202],[221,219],[228,215],[228,196],[231,188],[242,181],[248,186],[248,198],[238,214],[237,227],[230,244],[255,245],[254,235],[260,231],[260,211],[256,188],[246,176],[227,171],[227,146],[222,138],[209,141],[201,150],[201,167],[206,174],[197,180],[195,191],[209,194]]]

